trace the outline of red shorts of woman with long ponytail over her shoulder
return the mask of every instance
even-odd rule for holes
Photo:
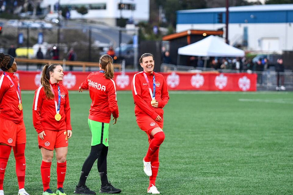
[[[68,139],[67,139],[67,131],[60,130],[60,131],[51,131],[51,130],[44,130],[46,136],[44,136],[44,140],[38,136],[38,144],[39,148],[43,147],[47,150],[54,150],[57,147],[66,147],[68,146]]]

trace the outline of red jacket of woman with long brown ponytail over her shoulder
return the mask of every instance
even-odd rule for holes
[[[51,83],[50,83],[51,84]],[[70,106],[68,90],[62,84],[51,84],[58,104],[58,85],[60,86],[60,121],[55,120],[56,108],[54,99],[47,99],[44,88],[41,86],[34,92],[33,124],[38,133],[45,130],[71,130]]]

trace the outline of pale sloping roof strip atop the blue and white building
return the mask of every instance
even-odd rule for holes
[[[229,12],[293,10],[293,4],[246,5],[229,7]],[[177,13],[226,12],[225,7],[179,10]]]

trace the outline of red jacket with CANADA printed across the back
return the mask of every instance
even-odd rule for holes
[[[88,89],[92,99],[89,109],[90,120],[109,123],[111,113],[113,117],[118,118],[119,111],[114,80],[106,79],[104,73],[90,73],[80,87]]]

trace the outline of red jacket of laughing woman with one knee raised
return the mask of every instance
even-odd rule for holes
[[[147,78],[150,83],[150,88],[153,92],[153,75],[155,75],[155,99],[158,102],[158,108],[153,108],[150,104],[152,101],[152,96],[150,95],[149,85],[145,77],[143,76],[143,71],[136,73],[133,76],[131,88],[132,88],[132,95],[134,99],[134,112],[136,116],[141,114],[147,114],[152,119],[156,119],[158,115],[163,118],[163,108],[168,103],[169,94],[166,85],[166,81],[164,76],[159,73],[146,73]]]

